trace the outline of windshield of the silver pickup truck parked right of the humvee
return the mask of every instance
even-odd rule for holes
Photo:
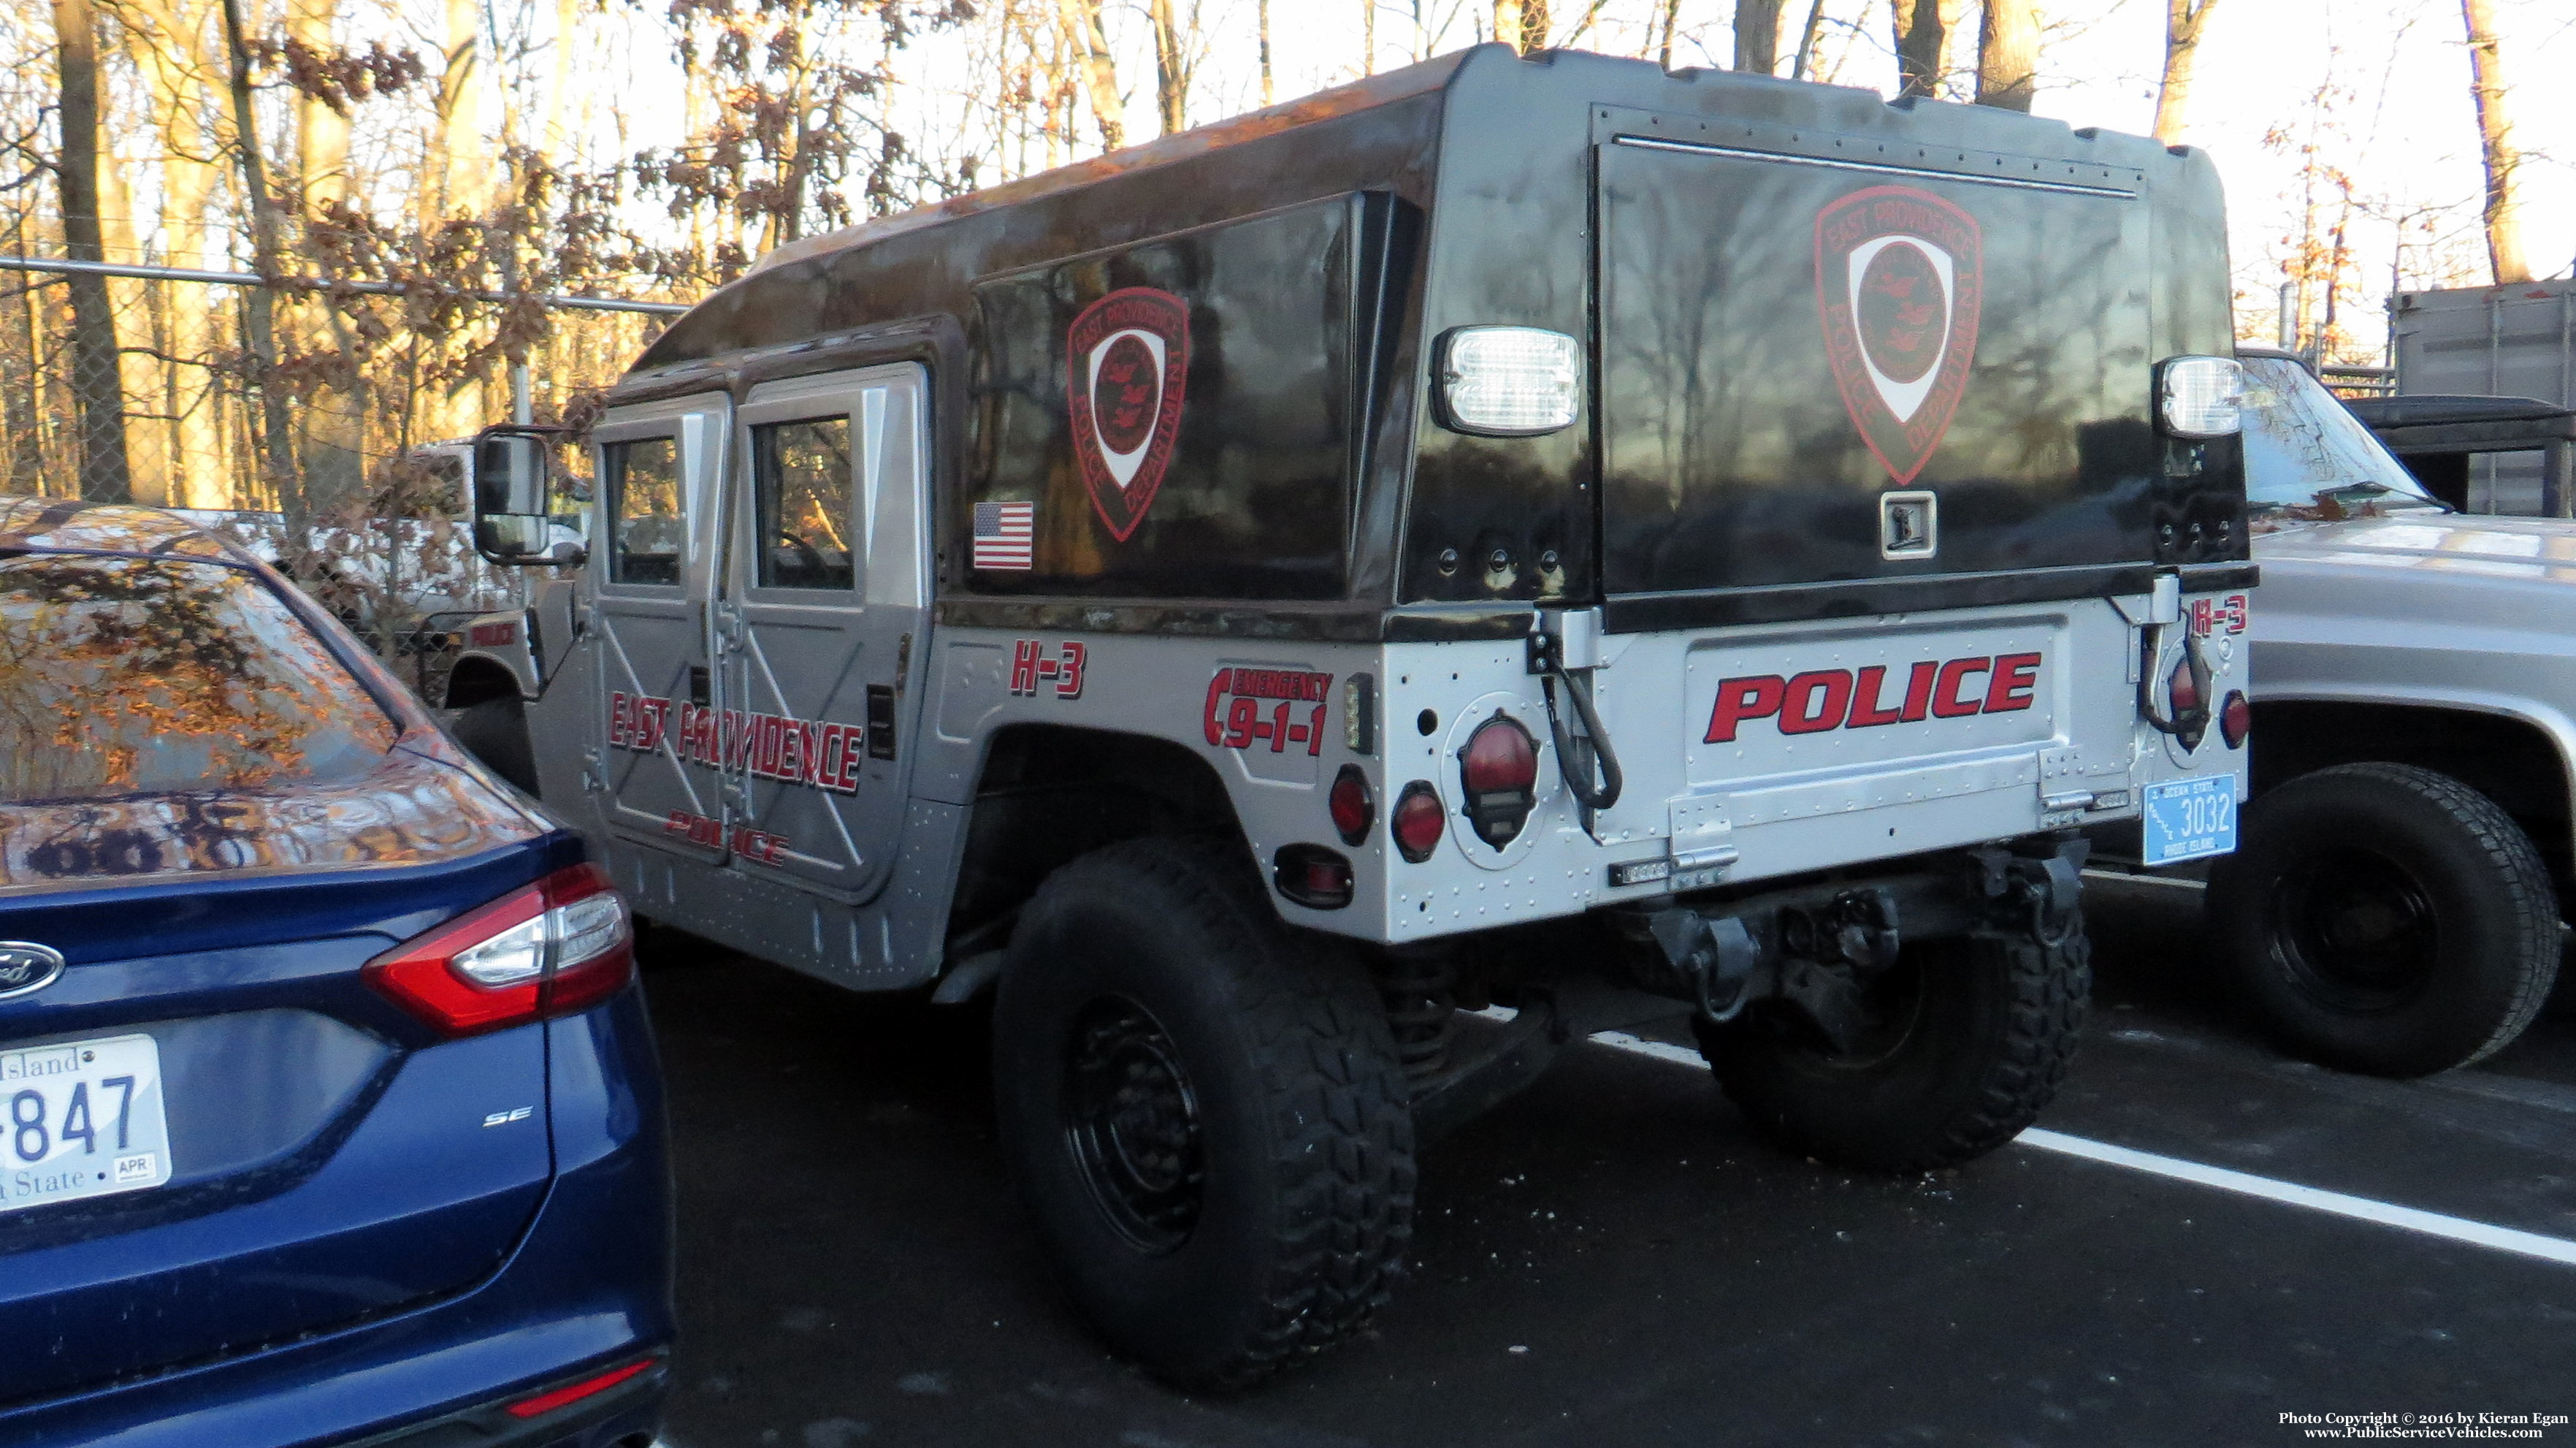
[[[2298,361],[2241,361],[2246,508],[2316,520],[2442,508]]]

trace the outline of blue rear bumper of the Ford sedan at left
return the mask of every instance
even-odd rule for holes
[[[0,1415],[0,1440],[72,1448],[471,1443],[608,1448],[659,1425],[667,1368],[559,1412],[471,1425],[672,1340],[670,1149],[644,997],[549,1025],[556,1177],[471,1291],[379,1322]]]

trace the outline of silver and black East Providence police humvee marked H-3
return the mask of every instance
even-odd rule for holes
[[[2233,837],[2228,353],[2202,155],[1479,46],[680,317],[590,433],[536,776],[647,915],[992,984],[1069,1291],[1244,1384],[1569,1033],[1687,1013],[1834,1162],[2032,1121],[2087,832]],[[487,433],[495,557],[544,451]]]

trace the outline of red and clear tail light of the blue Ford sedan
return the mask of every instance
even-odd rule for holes
[[[366,979],[446,1036],[598,1005],[634,979],[626,897],[572,866],[469,910],[366,964]]]

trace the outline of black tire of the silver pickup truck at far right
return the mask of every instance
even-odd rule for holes
[[[2336,765],[2254,799],[2208,904],[2257,1015],[2326,1067],[2465,1067],[2522,1036],[2558,979],[2540,850],[2496,801],[2416,765]]]

